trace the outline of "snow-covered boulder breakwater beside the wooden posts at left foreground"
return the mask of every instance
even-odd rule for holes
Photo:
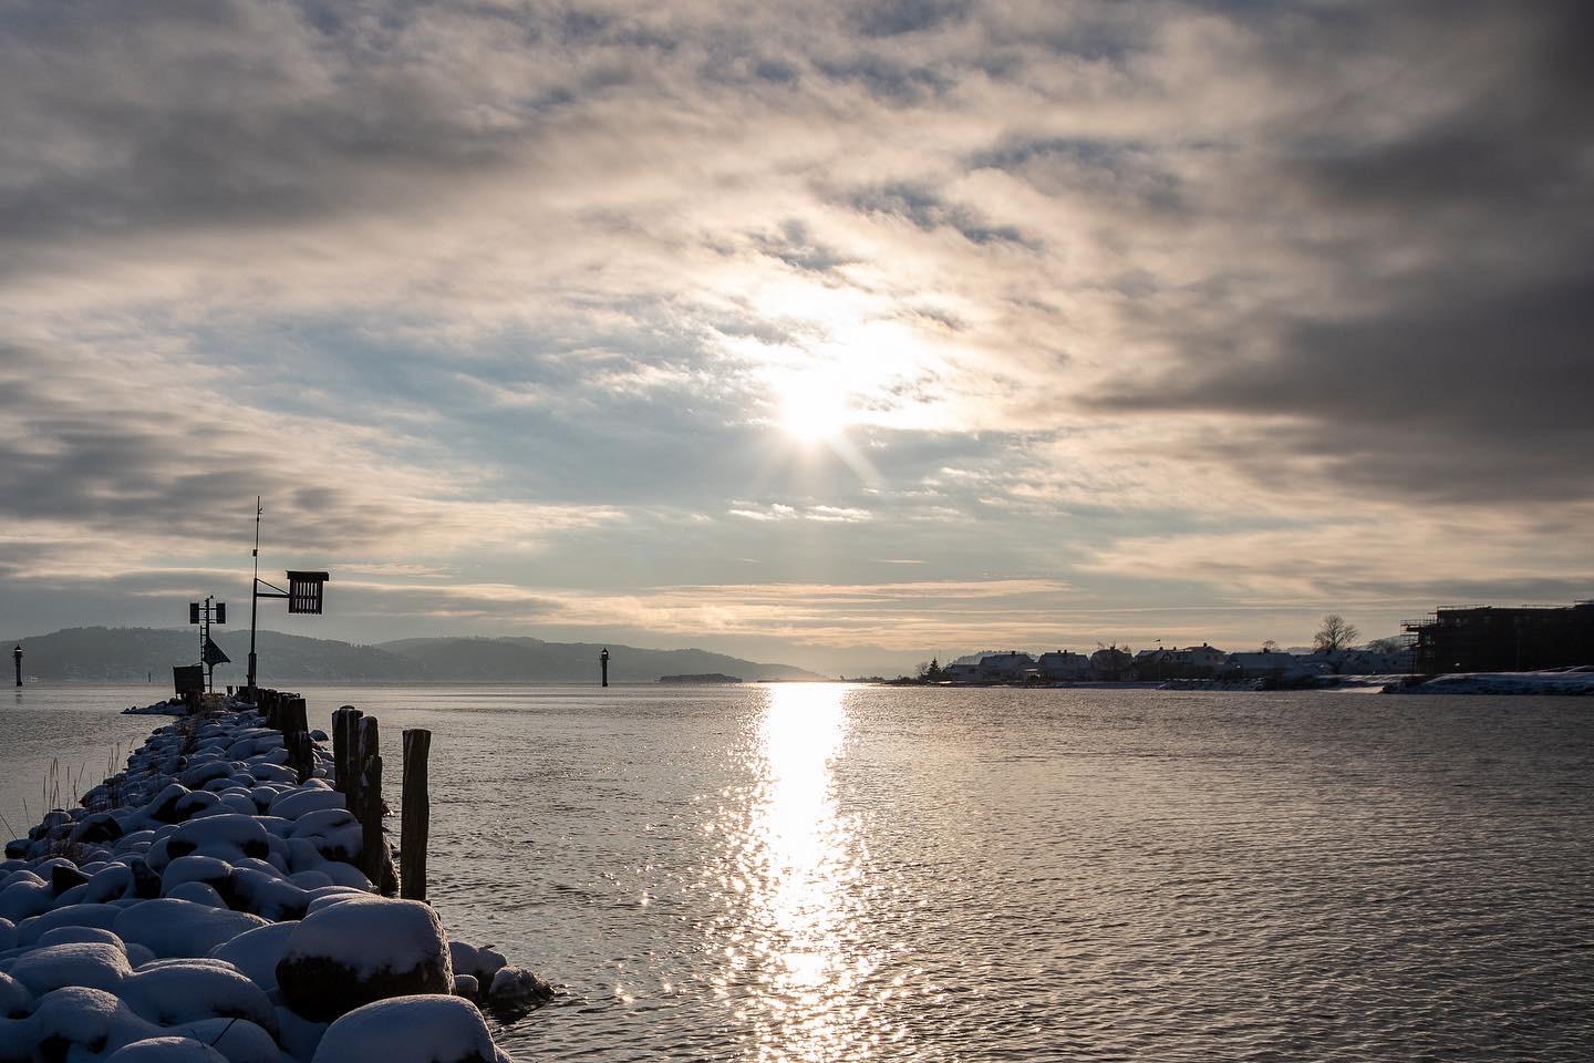
[[[477,1004],[552,990],[378,896],[330,771],[253,711],[183,719],[6,845],[0,1063],[508,1060]]]

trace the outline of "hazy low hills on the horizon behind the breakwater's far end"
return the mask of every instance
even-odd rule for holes
[[[218,665],[218,684],[241,685],[249,631],[212,628],[231,665]],[[67,628],[6,639],[22,644],[22,673],[46,682],[142,682],[153,674],[171,684],[172,665],[199,658],[198,628]],[[588,642],[542,639],[403,639],[354,645],[279,631],[257,636],[260,682],[591,682],[598,653]],[[728,673],[751,679],[819,679],[786,665],[759,665],[706,650],[644,650],[609,644],[611,682],[655,682],[681,673]]]

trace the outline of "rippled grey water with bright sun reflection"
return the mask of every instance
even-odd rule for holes
[[[1581,700],[304,693],[434,728],[434,900],[563,988],[523,1060],[1594,1055]],[[3,703],[0,794],[158,722],[92,696]]]

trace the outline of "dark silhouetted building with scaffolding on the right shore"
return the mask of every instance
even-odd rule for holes
[[[1446,606],[1408,620],[1423,674],[1594,665],[1594,601],[1572,606]]]

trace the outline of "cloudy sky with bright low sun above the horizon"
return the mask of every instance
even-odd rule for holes
[[[1594,596],[1594,5],[0,3],[0,631]]]

